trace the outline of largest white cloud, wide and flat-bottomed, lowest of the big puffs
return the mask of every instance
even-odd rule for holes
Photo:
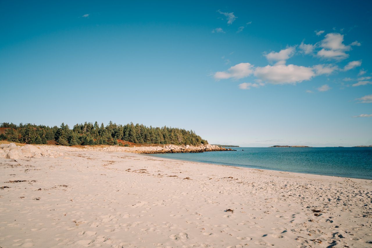
[[[310,67],[295,66],[293,64],[286,66],[280,64],[257,67],[256,70],[254,70],[254,76],[272,84],[295,84],[311,79],[311,77],[315,76],[315,73]]]

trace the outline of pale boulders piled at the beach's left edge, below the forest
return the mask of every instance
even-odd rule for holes
[[[39,149],[31,144],[17,146],[15,143],[0,144],[0,158],[23,159],[23,158],[40,158],[42,156],[58,157],[63,153]]]

